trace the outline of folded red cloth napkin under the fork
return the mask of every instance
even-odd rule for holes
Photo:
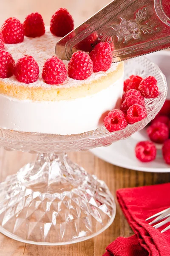
[[[166,226],[155,230],[145,221],[170,207],[170,183],[119,189],[117,199],[135,235],[119,237],[103,256],[170,256],[170,230],[162,234]]]

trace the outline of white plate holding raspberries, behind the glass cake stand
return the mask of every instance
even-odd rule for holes
[[[170,51],[154,52],[147,55],[147,58],[160,67],[167,78],[167,84],[170,86]],[[170,99],[170,90],[168,91],[167,98]],[[144,130],[133,134],[133,136],[127,140],[120,140],[105,148],[94,148],[91,152],[102,160],[123,168],[143,172],[170,172],[170,166],[164,163],[161,154],[161,145],[156,145],[159,149],[156,160],[150,163],[142,163],[137,160],[135,156],[135,145],[142,140],[148,140],[146,131]]]

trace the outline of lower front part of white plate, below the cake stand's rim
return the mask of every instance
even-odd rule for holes
[[[161,149],[157,151],[156,160],[150,163],[142,163],[136,158],[135,146],[142,140],[148,140],[144,130],[133,134],[127,140],[120,140],[105,148],[94,148],[91,152],[102,160],[123,168],[143,172],[170,172],[170,166],[164,163]]]

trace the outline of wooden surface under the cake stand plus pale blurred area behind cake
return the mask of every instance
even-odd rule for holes
[[[22,22],[29,12],[42,14],[45,24],[59,7],[67,8],[73,15],[75,25],[93,15],[110,0],[0,0],[0,25],[7,17],[17,17]],[[7,175],[17,172],[25,163],[34,160],[33,155],[22,152],[7,152],[0,149],[0,181]],[[119,188],[143,186],[170,182],[169,174],[136,172],[113,166],[100,160],[90,152],[73,152],[73,161],[104,180],[113,195]],[[116,202],[117,204],[117,202]],[[105,247],[118,236],[133,234],[122,211],[117,204],[116,218],[105,232],[93,239],[66,246],[36,246],[23,244],[0,234],[0,256],[102,256]]]

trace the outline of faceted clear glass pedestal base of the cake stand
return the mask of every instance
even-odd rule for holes
[[[39,154],[0,183],[0,232],[30,244],[71,244],[108,228],[116,206],[102,180],[66,154]]]

